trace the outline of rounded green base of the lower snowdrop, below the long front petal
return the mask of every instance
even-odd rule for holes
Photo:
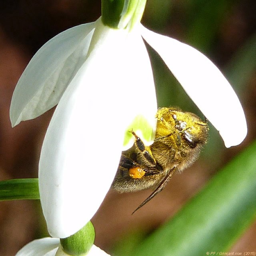
[[[61,238],[60,244],[69,255],[86,255],[92,247],[95,239],[95,230],[92,222],[88,222],[82,229],[68,238]]]

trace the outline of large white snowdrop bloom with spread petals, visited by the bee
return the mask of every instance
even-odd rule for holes
[[[38,50],[15,88],[13,126],[58,104],[39,163],[41,204],[53,237],[74,234],[98,210],[121,151],[133,143],[128,136],[124,141],[127,131],[133,129],[146,144],[154,139],[156,95],[143,39],[227,147],[246,136],[241,104],[220,70],[191,46],[127,17],[122,16],[118,29],[102,16],[58,34]]]

